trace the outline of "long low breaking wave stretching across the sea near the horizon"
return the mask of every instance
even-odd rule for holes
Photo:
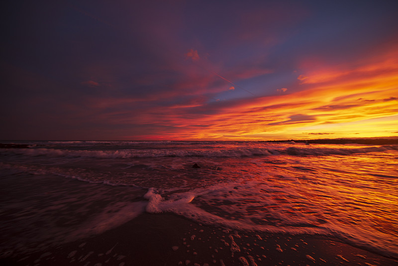
[[[350,155],[355,153],[386,152],[398,150],[398,145],[361,148],[233,148],[233,149],[124,149],[124,150],[69,150],[52,148],[8,148],[2,154],[28,156],[86,157],[86,158],[143,158],[143,157],[250,157],[258,155]]]

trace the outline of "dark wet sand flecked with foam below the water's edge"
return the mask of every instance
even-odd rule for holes
[[[228,231],[173,214],[143,213],[97,236],[33,254],[9,254],[0,264],[397,266],[398,261],[333,238]]]

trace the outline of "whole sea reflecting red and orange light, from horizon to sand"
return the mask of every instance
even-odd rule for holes
[[[29,146],[0,149],[0,257],[171,212],[235,230],[333,236],[398,258],[398,145],[18,143]]]

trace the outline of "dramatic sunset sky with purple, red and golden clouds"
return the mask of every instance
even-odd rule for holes
[[[0,139],[398,135],[398,1],[2,1]]]

